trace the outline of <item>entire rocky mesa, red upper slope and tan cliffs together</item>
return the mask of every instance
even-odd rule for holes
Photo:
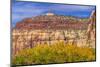
[[[13,54],[37,44],[51,45],[59,41],[95,48],[95,13],[88,22],[55,15],[27,18],[12,29]]]

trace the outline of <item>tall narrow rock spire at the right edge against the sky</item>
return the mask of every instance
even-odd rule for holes
[[[96,12],[92,11],[91,16],[89,18],[89,24],[88,24],[88,28],[87,28],[87,37],[88,40],[95,40],[95,35],[96,35]]]

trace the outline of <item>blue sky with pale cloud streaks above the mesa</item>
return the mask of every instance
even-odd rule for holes
[[[87,18],[92,10],[95,10],[95,6],[14,1],[12,2],[12,26],[14,27],[24,18],[38,16],[49,11],[57,15]]]

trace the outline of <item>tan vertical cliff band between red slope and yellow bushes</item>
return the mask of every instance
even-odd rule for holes
[[[86,30],[13,30],[13,51],[35,47],[37,44],[54,44],[63,41],[65,44],[86,46]],[[14,52],[14,53],[16,53]]]

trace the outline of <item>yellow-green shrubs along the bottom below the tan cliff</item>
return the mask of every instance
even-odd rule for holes
[[[95,60],[95,49],[58,42],[51,45],[37,44],[16,54],[13,64],[48,64]]]

